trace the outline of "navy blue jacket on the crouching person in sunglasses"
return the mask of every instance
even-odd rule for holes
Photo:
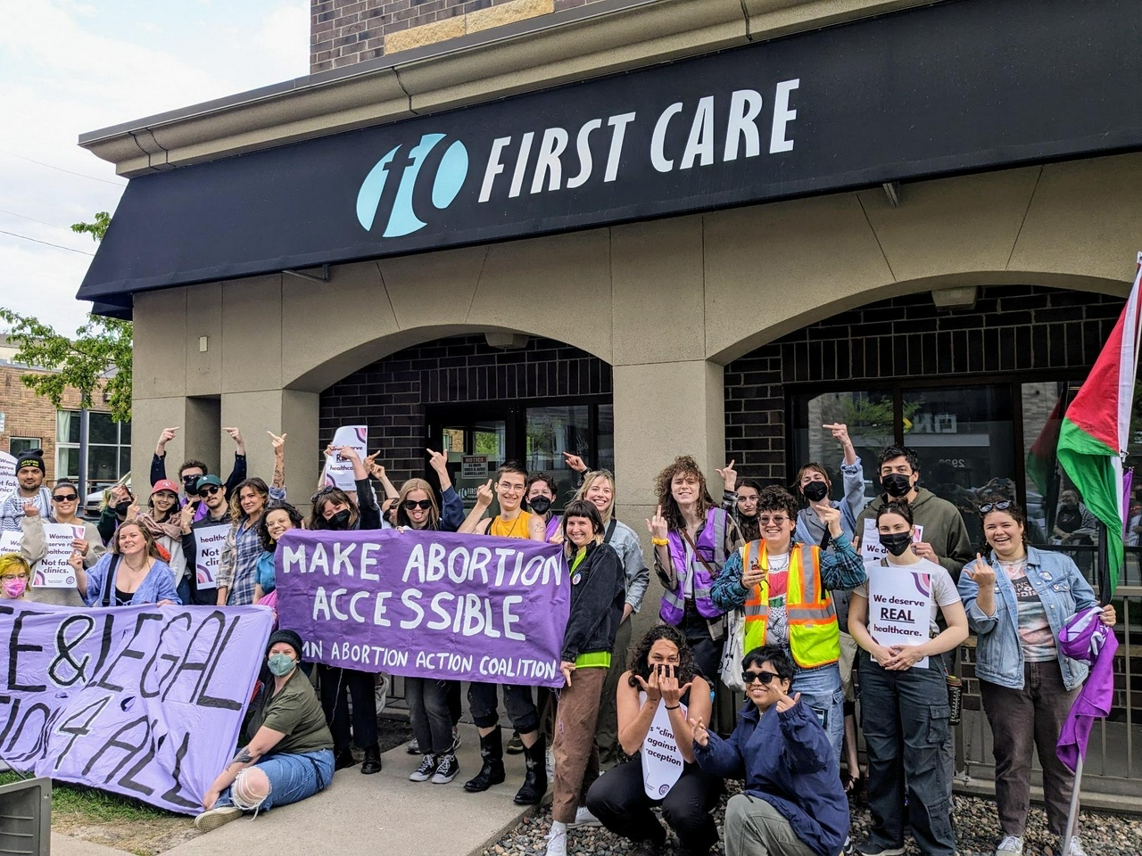
[[[849,799],[833,766],[833,748],[804,702],[764,717],[746,702],[729,740],[710,732],[694,760],[706,773],[746,780],[746,793],[765,800],[789,821],[806,847],[836,856],[849,837]]]

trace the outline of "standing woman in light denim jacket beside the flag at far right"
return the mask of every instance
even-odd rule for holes
[[[1003,833],[996,856],[1020,856],[1035,750],[1047,829],[1060,837],[1065,831],[1075,774],[1059,760],[1055,746],[1089,669],[1063,654],[1059,631],[1099,601],[1069,556],[1028,546],[1027,515],[1018,502],[984,502],[980,517],[991,550],[986,557],[976,554],[964,568],[959,596],[976,635],[975,677],[991,726]],[[1115,607],[1102,607],[1100,620],[1113,627]],[[1077,835],[1062,856],[1085,856]]]

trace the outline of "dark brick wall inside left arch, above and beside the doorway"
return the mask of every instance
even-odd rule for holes
[[[369,449],[383,450],[381,462],[399,486],[425,473],[425,405],[610,393],[611,366],[562,342],[529,338],[518,350],[500,350],[482,336],[437,339],[367,365],[324,390],[321,446],[341,425],[368,425]]]

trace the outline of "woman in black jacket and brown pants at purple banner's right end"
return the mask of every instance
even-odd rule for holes
[[[555,801],[547,856],[566,856],[569,824],[595,819],[585,805],[587,790],[598,778],[595,721],[625,595],[619,555],[603,543],[603,532],[593,502],[568,503],[563,544],[571,568],[571,611],[560,664],[566,687],[555,719]]]

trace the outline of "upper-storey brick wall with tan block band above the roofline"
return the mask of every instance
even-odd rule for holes
[[[597,0],[313,0],[311,73]]]

